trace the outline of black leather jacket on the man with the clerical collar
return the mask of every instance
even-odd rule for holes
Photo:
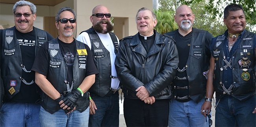
[[[148,53],[139,33],[120,40],[115,65],[124,98],[139,99],[136,89],[142,85],[155,99],[171,98],[171,82],[178,68],[178,51],[174,40],[154,30],[155,41]]]

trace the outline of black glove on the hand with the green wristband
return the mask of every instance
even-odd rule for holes
[[[78,101],[78,99],[81,97],[82,93],[78,89],[76,89],[67,94],[67,96],[65,96],[62,100],[64,101],[64,104],[67,105],[67,107],[72,108],[75,106],[76,101]]]

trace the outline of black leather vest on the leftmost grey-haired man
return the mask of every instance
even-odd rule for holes
[[[35,55],[41,44],[46,42],[46,31],[33,27],[35,30]],[[22,77],[22,56],[20,45],[15,34],[15,27],[3,29],[2,37],[4,40],[1,46],[1,71],[4,84],[4,92],[7,99],[11,99],[20,92],[20,84]],[[1,41],[2,41],[1,40]],[[4,69],[3,69],[4,68]],[[16,81],[16,86],[12,85],[12,81]],[[13,87],[13,88],[12,88]],[[14,90],[15,92],[14,92]],[[10,92],[10,91],[13,92]],[[12,94],[11,94],[12,93]]]

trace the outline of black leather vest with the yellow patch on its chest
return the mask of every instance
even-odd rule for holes
[[[85,69],[86,69],[86,60],[87,52],[85,44],[75,40],[76,42],[76,57],[73,65],[73,81],[74,87],[73,90],[78,88],[83,79],[85,78]],[[61,55],[61,50],[59,49],[58,38],[49,41],[48,49],[50,61],[49,61],[49,72],[47,75],[48,81],[58,90],[59,93],[67,91],[67,86],[64,83],[64,80],[67,79],[67,66]],[[83,55],[84,54],[84,55]],[[70,83],[71,85],[71,83]],[[51,114],[61,109],[59,105],[44,92],[42,92],[41,106]],[[89,93],[88,91],[83,94],[83,97],[78,99],[76,102],[76,109],[80,112],[83,112],[89,106]]]

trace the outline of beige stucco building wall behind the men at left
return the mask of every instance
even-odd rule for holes
[[[55,17],[61,7],[72,7],[77,14],[77,34],[92,26],[89,17],[92,14],[93,7],[104,5],[108,7],[111,16],[114,17],[114,33],[119,39],[134,35],[137,33],[135,16],[137,10],[141,7],[152,9],[152,0],[66,0],[54,7],[52,6],[37,6],[37,16]],[[0,4],[1,15],[13,15],[13,4]],[[4,24],[4,20],[0,19],[0,25]],[[43,22],[43,21],[42,21]],[[45,21],[47,22],[47,21]],[[51,20],[52,22],[52,20]],[[14,25],[12,23],[9,23]],[[49,23],[44,23],[48,25]],[[116,25],[115,25],[116,24]]]

